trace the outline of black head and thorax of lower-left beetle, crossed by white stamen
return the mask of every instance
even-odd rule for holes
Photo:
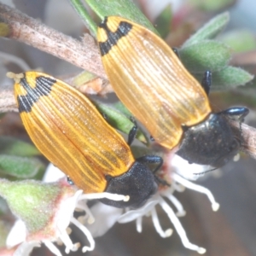
[[[108,187],[105,192],[129,195],[129,201],[112,201],[101,199],[102,203],[119,208],[142,207],[151,195],[157,190],[157,184],[154,181],[154,174],[142,163],[136,161],[128,172],[119,177],[107,177]]]

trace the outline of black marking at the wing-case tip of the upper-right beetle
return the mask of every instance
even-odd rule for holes
[[[111,32],[108,28],[108,17],[105,17],[99,27],[102,27],[108,35],[108,40],[106,42],[99,42],[101,55],[103,56],[108,54],[110,49],[118,43],[120,38],[127,36],[131,31],[132,25],[126,21],[121,21],[117,30]]]

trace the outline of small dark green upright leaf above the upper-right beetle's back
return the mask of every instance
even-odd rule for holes
[[[168,4],[165,9],[154,21],[157,31],[160,33],[161,38],[166,38],[171,29],[172,9],[171,4]]]

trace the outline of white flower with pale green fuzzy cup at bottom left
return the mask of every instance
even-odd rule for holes
[[[52,165],[50,166],[50,172],[53,172],[56,168]],[[58,173],[55,177],[60,178],[61,174]],[[47,177],[49,179],[49,177]],[[54,253],[57,256],[61,256],[60,250],[55,246],[53,242],[55,241],[61,241],[64,246],[66,247],[65,252],[69,253],[70,251],[77,251],[80,247],[79,243],[73,243],[71,241],[68,233],[67,233],[67,227],[69,224],[74,224],[84,233],[84,236],[86,236],[87,240],[89,241],[89,246],[82,247],[82,252],[85,253],[86,251],[92,251],[95,248],[95,241],[93,237],[90,234],[90,231],[87,230],[87,228],[84,226],[84,224],[81,224],[78,219],[73,217],[73,212],[75,211],[75,208],[79,208],[80,210],[84,210],[85,215],[84,219],[87,221],[87,223],[93,223],[95,221],[95,218],[93,218],[90,209],[86,205],[86,201],[91,199],[99,199],[99,198],[108,198],[112,200],[124,200],[128,201],[129,196],[127,195],[113,195],[109,193],[96,193],[96,194],[87,194],[83,195],[82,190],[75,189],[73,186],[69,185],[67,183],[67,178],[61,178],[56,183],[48,183],[49,185],[45,185],[46,183],[39,183],[34,181],[29,182],[20,182],[20,183],[10,183],[6,181],[9,186],[18,186],[19,188],[24,186],[24,189],[32,189],[32,193],[35,195],[32,195],[34,197],[29,198],[23,198],[23,201],[26,201],[27,204],[24,206],[24,208],[35,208],[35,215],[28,216],[21,214],[19,212],[19,207],[17,210],[16,204],[20,204],[19,198],[15,201],[9,201],[9,194],[4,196],[6,197],[7,201],[10,203],[9,207],[12,210],[15,210],[14,213],[17,217],[25,218],[26,220],[21,220],[20,218],[16,221],[15,225],[13,226],[12,230],[9,232],[9,236],[6,241],[6,247],[14,248],[15,249],[15,256],[24,256],[29,255],[29,253],[32,252],[33,247],[39,247],[41,243],[44,243],[46,247],[49,248],[49,250]],[[41,188],[40,188],[41,187]],[[43,189],[43,190],[42,190]],[[46,190],[50,189],[53,191],[52,193],[48,194]],[[10,190],[10,189],[9,189]],[[39,193],[38,193],[39,191]],[[47,212],[47,218],[48,220],[45,222],[45,224],[42,226],[40,223],[38,226],[35,225],[30,230],[28,227],[30,227],[30,218],[40,218],[37,214],[44,214],[44,209],[40,208],[38,205],[31,204],[30,201],[36,202],[39,199],[44,200],[44,195],[40,195],[41,193],[44,193],[45,195],[51,195],[47,198],[47,203],[49,203],[49,206],[52,206],[52,211],[46,210]],[[27,192],[26,194],[31,195],[32,193]],[[27,196],[27,195],[26,195]],[[22,198],[22,194],[21,194]],[[20,200],[21,200],[20,198]],[[83,201],[83,202],[81,202]],[[85,201],[85,204],[84,204]],[[39,201],[40,203],[40,201]],[[48,207],[48,206],[47,206]],[[109,207],[107,207],[109,208]],[[115,208],[114,208],[115,209]],[[24,209],[22,209],[24,211]],[[105,210],[106,211],[106,210]],[[26,211],[25,211],[26,212]],[[29,212],[29,211],[28,211]],[[25,217],[24,217],[25,216]],[[114,221],[115,222],[115,221]],[[110,226],[108,226],[110,228]],[[31,228],[31,227],[30,227]],[[100,230],[100,232],[102,232]],[[101,234],[99,233],[99,236]]]

